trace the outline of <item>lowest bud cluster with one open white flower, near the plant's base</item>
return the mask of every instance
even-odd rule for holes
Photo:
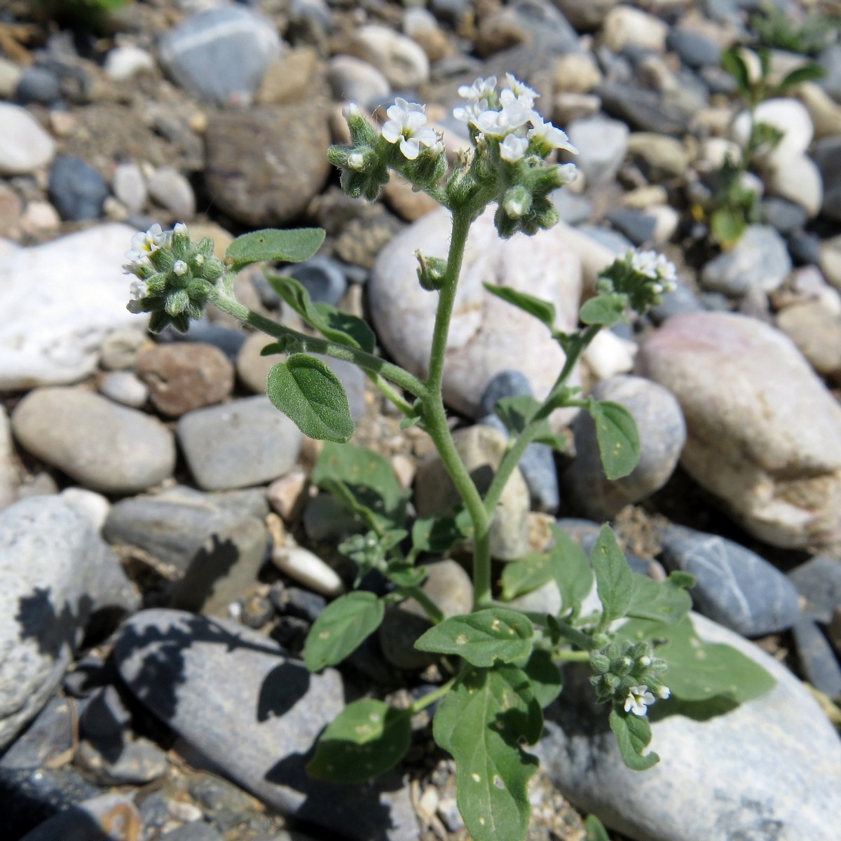
[[[610,701],[616,710],[645,716],[655,701],[671,695],[660,680],[666,664],[654,657],[649,642],[611,643],[590,654],[590,665],[596,700]]]

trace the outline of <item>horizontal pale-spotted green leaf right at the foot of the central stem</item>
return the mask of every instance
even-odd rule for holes
[[[455,654],[469,664],[488,668],[513,663],[532,653],[534,627],[527,616],[503,607],[452,616],[431,627],[415,642],[418,651]]]

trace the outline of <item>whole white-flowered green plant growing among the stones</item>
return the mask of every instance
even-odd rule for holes
[[[130,309],[150,312],[153,331],[170,323],[184,330],[212,303],[276,340],[264,351],[284,357],[269,374],[269,399],[305,435],[325,441],[311,479],[359,524],[359,533],[339,549],[357,564],[357,586],[373,569],[390,582],[388,595],[355,589],[327,606],[304,646],[307,667],[318,671],[341,663],[377,630],[389,603],[413,598],[431,622],[415,648],[438,655],[447,666],[443,672],[454,675],[408,709],[375,698],[348,705],[322,733],[309,773],[359,783],[394,768],[409,748],[412,716],[441,701],[433,734],[456,760],[458,806],[468,832],[477,841],[517,841],[526,834],[527,785],[537,768],[528,746],[540,738],[543,709],[562,690],[564,663],[589,667],[595,700],[606,706],[622,759],[638,770],[658,761],[648,750],[652,705],[703,716],[761,694],[772,681],[733,648],[696,636],[688,616],[689,575],[673,573],[657,582],[633,573],[608,526],[589,558],[556,528],[550,548],[506,563],[500,580],[492,580],[491,517],[531,442],[563,446],[548,422],[554,410],[577,406],[590,412],[608,478],[627,476],[635,467],[640,447],[632,415],[616,403],[584,397],[568,380],[600,330],[631,310],[645,312],[673,287],[674,267],[653,251],[617,258],[582,307],[583,326],[571,332],[558,330],[547,301],[488,285],[490,293],[540,320],[565,362],[544,399],[500,400],[496,411],[510,430],[509,444],[480,495],[458,457],[442,400],[447,332],[468,231],[489,204],[496,205],[500,236],[552,227],[558,217],[551,193],[574,179],[575,167],[550,159],[556,150],[575,150],[562,130],[537,114],[537,93],[510,75],[501,86],[491,77],[459,93],[465,104],[455,115],[468,125],[472,150],[454,167],[441,137],[426,125],[424,106],[404,99],[388,109],[380,129],[348,106],[352,145],[333,146],[329,153],[352,196],[376,198],[394,171],[452,215],[447,256],[417,255],[419,281],[437,298],[426,378],[377,357],[375,337],[363,320],[314,303],[292,278],[267,272],[278,295],[321,337],[280,325],[235,299],[235,272],[254,262],[305,260],[318,250],[323,231],[258,230],[236,239],[219,261],[212,243],[193,244],[183,225],[167,233],[155,226],[136,235],[126,271],[136,277]],[[405,415],[405,426],[419,425],[431,436],[460,505],[443,516],[411,519],[409,495],[389,463],[347,443],[354,424],[346,394],[314,352],[356,363]],[[419,562],[466,540],[473,548],[473,611],[445,618],[421,589],[426,570]],[[550,581],[562,596],[556,615],[510,606]]]

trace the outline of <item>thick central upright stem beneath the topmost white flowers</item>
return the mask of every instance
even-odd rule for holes
[[[490,517],[476,485],[473,484],[473,479],[470,478],[467,468],[464,467],[458,455],[450,427],[447,425],[447,412],[444,410],[442,397],[447,335],[458,290],[458,276],[462,269],[464,247],[467,245],[468,231],[472,221],[473,215],[468,212],[456,211],[452,214],[447,271],[444,272],[435,315],[435,328],[432,331],[426,396],[421,399],[424,404],[423,417],[426,422],[426,431],[435,443],[442,463],[461,495],[473,522],[473,605],[479,607],[484,606],[490,599]]]

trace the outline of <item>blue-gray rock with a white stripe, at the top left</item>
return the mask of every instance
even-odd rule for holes
[[[220,105],[251,101],[281,53],[274,24],[251,9],[221,6],[199,12],[161,38],[161,63],[193,96]]]

